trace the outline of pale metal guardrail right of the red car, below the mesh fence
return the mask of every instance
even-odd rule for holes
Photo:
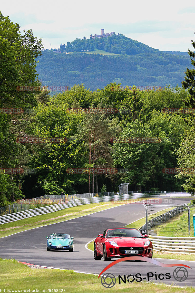
[[[149,235],[153,249],[170,252],[195,253],[195,237],[165,237]]]

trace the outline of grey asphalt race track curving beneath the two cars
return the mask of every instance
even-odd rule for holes
[[[192,198],[172,199],[175,204],[188,203],[191,200]],[[27,230],[0,238],[0,257],[15,258],[16,260],[34,265],[99,274],[112,261],[103,261],[103,258],[102,260],[94,260],[93,252],[87,250],[85,244],[96,238],[98,234],[103,233],[106,228],[123,227],[144,216],[144,206],[140,203],[133,203],[110,208],[84,217]],[[74,237],[74,252],[46,251],[46,236],[57,232],[67,233],[71,237]],[[195,286],[195,262],[156,260],[164,264],[180,263],[188,265],[191,269],[187,268],[187,279],[184,282],[177,282],[174,279],[173,271],[176,267],[163,268],[147,262],[123,261],[109,268],[106,272],[110,272],[115,276],[140,273],[141,277],[145,278],[144,280],[146,281],[147,273],[153,272],[154,276],[150,279],[153,282],[174,283],[179,286]],[[170,273],[170,279],[158,279],[158,274],[165,275],[167,272]],[[155,273],[157,280],[155,280]],[[162,277],[163,275],[161,275]]]

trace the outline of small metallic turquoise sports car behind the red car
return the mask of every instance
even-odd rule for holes
[[[47,251],[54,250],[69,250],[73,252],[73,239],[69,234],[53,233],[47,238]]]

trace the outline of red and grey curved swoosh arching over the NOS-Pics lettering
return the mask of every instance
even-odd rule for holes
[[[188,265],[182,265],[181,263],[174,263],[172,265],[165,265],[164,263],[161,263],[160,261],[155,260],[153,258],[146,258],[144,256],[127,256],[127,257],[115,260],[112,263],[110,263],[109,265],[107,265],[107,267],[105,269],[103,269],[103,271],[101,271],[98,278],[101,276],[101,274],[103,274],[103,272],[105,272],[106,270],[111,268],[113,265],[116,265],[117,263],[120,263],[121,261],[125,261],[125,260],[143,260],[143,261],[147,261],[148,263],[153,263],[154,265],[159,265],[160,267],[164,267],[164,268],[177,267],[177,266],[190,268]]]

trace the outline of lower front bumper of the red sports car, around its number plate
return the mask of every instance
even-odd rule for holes
[[[138,253],[125,253],[125,250],[122,249],[123,247],[113,247],[113,248],[106,248],[108,258],[122,258],[127,256],[144,256],[144,257],[152,257],[152,248],[151,247],[144,247],[138,250]]]

